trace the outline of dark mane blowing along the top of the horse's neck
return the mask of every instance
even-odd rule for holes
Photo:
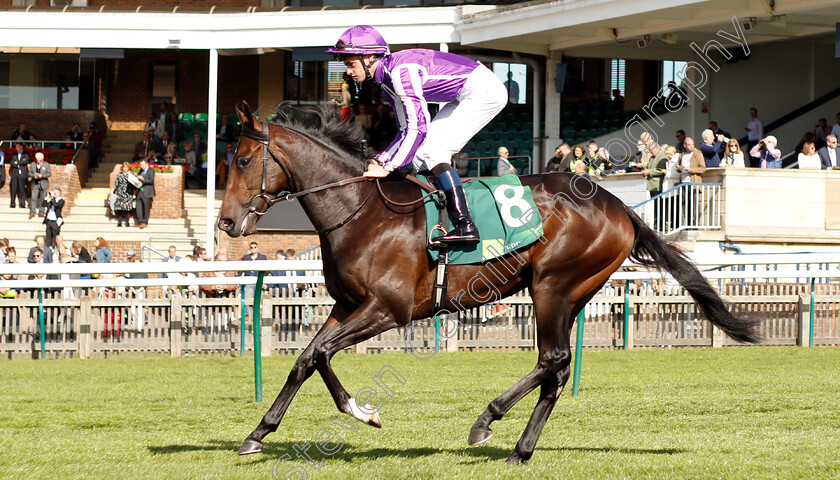
[[[277,116],[271,123],[335,145],[363,164],[368,161],[364,131],[358,124],[343,123],[340,110],[333,104],[296,107],[281,103],[277,106]]]

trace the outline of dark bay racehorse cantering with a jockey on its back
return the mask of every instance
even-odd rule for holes
[[[303,192],[361,175],[368,163],[362,134],[341,124],[337,110],[321,106],[278,109],[274,123],[237,109],[243,135],[230,166],[219,228],[232,237],[256,231],[261,212],[284,189]],[[490,439],[490,424],[540,387],[539,400],[508,462],[531,457],[557,397],[569,379],[570,333],[575,317],[629,256],[670,273],[708,319],[741,342],[760,340],[755,324],[733,317],[697,268],[635,213],[585,176],[551,173],[521,178],[531,187],[544,223],[540,241],[501,259],[449,267],[449,311],[473,308],[527,288],[534,303],[539,356],[534,369],[490,402],[473,425],[469,443]],[[422,208],[397,206],[421,196],[399,175],[360,181],[301,196],[318,230],[324,277],[335,299],[329,318],[297,359],[285,385],[239,453],[256,453],[277,430],[292,399],[315,371],[336,406],[379,427],[379,415],[360,406],[336,377],[336,352],[413,319],[433,315],[435,264],[426,252]],[[476,282],[476,278],[489,281]],[[469,287],[469,288],[468,288]]]

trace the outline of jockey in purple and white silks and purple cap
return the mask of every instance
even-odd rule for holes
[[[327,50],[347,66],[357,82],[373,80],[397,116],[400,131],[391,145],[371,160],[366,177],[381,178],[412,163],[431,170],[446,194],[453,228],[433,240],[446,245],[478,243],[461,179],[452,156],[507,104],[504,84],[487,67],[453,53],[410,49],[391,53],[373,27],[345,31]],[[428,102],[445,103],[434,120]]]

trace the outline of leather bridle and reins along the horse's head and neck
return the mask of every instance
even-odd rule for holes
[[[287,190],[283,190],[283,191],[277,193],[272,198],[266,192],[266,189],[265,189],[266,178],[267,178],[267,175],[268,175],[267,172],[268,172],[269,157],[274,159],[274,162],[277,163],[277,165],[280,166],[281,170],[283,170],[283,174],[286,175],[287,184],[292,184],[294,182],[294,180],[292,178],[291,172],[289,171],[288,167],[286,167],[286,164],[284,164],[280,160],[280,158],[277,155],[275,155],[274,152],[271,151],[271,140],[270,140],[271,137],[269,137],[269,135],[268,135],[268,122],[263,122],[263,131],[262,131],[263,138],[258,138],[255,135],[250,134],[250,133],[251,132],[249,132],[246,129],[242,130],[242,135],[250,138],[251,140],[254,140],[254,141],[257,141],[257,142],[261,143],[262,146],[263,146],[263,158],[262,158],[262,160],[263,160],[263,171],[262,171],[262,180],[260,182],[260,193],[258,193],[257,195],[254,195],[253,198],[251,198],[251,201],[249,202],[250,206],[248,207],[248,213],[249,214],[254,214],[257,217],[262,217],[263,215],[265,215],[268,212],[269,209],[271,209],[272,206],[274,206],[275,204],[280,203],[280,202],[290,201],[290,200],[292,200],[294,198],[297,198],[297,197],[303,197],[305,195],[309,195],[310,193],[316,193],[316,192],[320,192],[320,191],[323,191],[323,190],[328,190],[328,189],[331,189],[331,188],[344,187],[344,186],[351,185],[351,184],[354,184],[354,183],[373,180],[376,183],[376,188],[371,188],[370,189],[370,193],[368,193],[367,197],[365,197],[364,201],[362,201],[362,203],[359,205],[358,208],[356,208],[356,210],[353,211],[353,213],[351,213],[347,218],[345,218],[344,220],[342,220],[341,222],[337,223],[336,225],[334,225],[330,228],[326,228],[326,229],[322,229],[322,230],[315,230],[315,232],[318,233],[318,234],[327,235],[330,232],[332,232],[333,230],[337,230],[337,229],[343,227],[348,222],[350,222],[350,220],[352,220],[356,215],[358,215],[358,213],[362,210],[362,208],[365,206],[365,204],[367,204],[368,200],[370,200],[370,197],[373,196],[374,190],[379,191],[379,194],[382,196],[382,199],[385,200],[386,203],[390,203],[390,204],[395,205],[397,207],[410,207],[410,206],[414,206],[414,205],[417,205],[417,204],[421,204],[426,198],[430,197],[431,195],[441,196],[441,191],[440,190],[430,187],[429,185],[420,181],[417,177],[415,177],[413,175],[405,175],[406,180],[414,183],[415,185],[419,186],[421,189],[426,190],[429,193],[427,193],[427,194],[423,195],[422,197],[420,197],[419,199],[411,201],[411,202],[406,202],[406,203],[395,202],[395,201],[390,200],[387,196],[385,196],[385,192],[382,191],[382,185],[379,182],[379,178],[365,177],[365,176],[360,175],[358,177],[346,178],[344,180],[339,180],[337,182],[328,183],[326,185],[321,185],[319,187],[314,187],[314,188],[309,188],[309,189],[306,189],[306,190],[301,190],[301,191],[298,191],[298,192],[295,192],[295,193],[292,193],[292,192],[287,191]],[[259,208],[257,206],[257,200],[259,200],[260,203],[264,203],[265,208],[262,208],[262,209]]]

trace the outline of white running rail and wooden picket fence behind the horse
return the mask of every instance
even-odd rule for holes
[[[733,255],[706,263],[710,265],[704,268],[715,268],[705,272],[707,278],[730,302],[733,312],[761,319],[765,344],[840,344],[840,284],[836,283],[840,255]],[[764,271],[739,271],[745,264]],[[182,271],[185,269],[190,272]],[[253,351],[251,308],[243,306],[238,285],[251,285],[256,277],[217,277],[215,272],[320,269],[319,261],[309,260],[0,265],[0,275],[65,277],[0,283],[0,289],[17,290],[15,298],[0,298],[0,354],[6,358],[40,356],[39,307],[44,317],[46,356],[51,358]],[[106,278],[142,272],[178,277]],[[181,275],[196,272],[213,276]],[[73,278],[87,273],[97,273],[100,278]],[[261,353],[298,353],[326,321],[333,300],[320,275],[265,278]],[[237,288],[220,293],[219,288],[201,290],[202,285]],[[243,328],[246,335],[241,344]],[[517,294],[443,318],[440,330],[443,333],[436,338],[433,319],[413,322],[408,331],[383,333],[355,350],[423,352],[435,348],[436,343],[447,351],[530,350],[535,342],[533,305],[527,294]],[[575,340],[573,331],[573,344]],[[682,287],[655,272],[614,274],[585,309],[583,345],[588,348],[734,344],[711,327]]]

